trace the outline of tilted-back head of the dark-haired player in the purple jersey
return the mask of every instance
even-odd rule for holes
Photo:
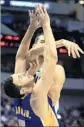
[[[26,73],[18,73],[11,75],[4,83],[4,91],[11,98],[21,98],[24,94],[20,94],[22,86],[33,87],[34,78]]]

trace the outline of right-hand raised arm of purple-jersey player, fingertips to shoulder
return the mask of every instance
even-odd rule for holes
[[[44,46],[44,63],[41,74],[41,79],[37,82],[34,87],[35,92],[39,91],[47,94],[53,80],[53,75],[55,71],[55,66],[57,62],[57,52],[55,40],[50,27],[50,19],[46,9],[44,12],[41,7],[38,7],[39,20],[41,20],[41,25],[43,27],[45,46]]]

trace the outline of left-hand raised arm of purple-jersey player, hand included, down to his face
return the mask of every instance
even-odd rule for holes
[[[36,13],[29,11],[30,16],[30,25],[23,37],[21,44],[18,48],[15,61],[15,73],[25,72],[26,71],[26,55],[29,50],[30,42],[32,36],[40,24],[36,18]]]

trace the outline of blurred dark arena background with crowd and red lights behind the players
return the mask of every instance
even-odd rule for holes
[[[38,3],[47,6],[55,39],[71,40],[84,50],[84,0],[1,0],[0,3],[0,126],[11,127],[18,126],[18,123],[12,100],[4,94],[3,83],[14,72],[17,48],[29,25],[28,9],[31,10]],[[36,31],[34,38],[39,32],[41,29]],[[58,56],[66,72],[58,113],[62,120],[61,127],[84,127],[84,55],[80,59],[73,59],[68,57],[63,47],[58,49]]]

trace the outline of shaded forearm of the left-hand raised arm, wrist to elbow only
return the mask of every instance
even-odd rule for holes
[[[35,32],[35,29],[30,25],[21,41],[21,44],[16,54],[16,58],[18,57],[25,58],[34,32]]]

